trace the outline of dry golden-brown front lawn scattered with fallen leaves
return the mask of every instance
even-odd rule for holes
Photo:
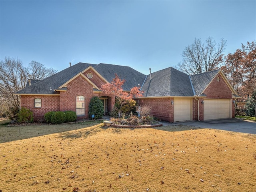
[[[2,125],[0,190],[254,192],[255,143],[253,134],[187,126],[80,123],[25,126],[19,134]]]

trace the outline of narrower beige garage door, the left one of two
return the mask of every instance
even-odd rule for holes
[[[191,99],[174,99],[174,121],[191,120]]]

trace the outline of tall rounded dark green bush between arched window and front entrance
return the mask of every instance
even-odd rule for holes
[[[104,106],[100,98],[93,97],[89,103],[89,118],[92,119],[92,114],[94,114],[94,119],[102,119],[104,114]]]

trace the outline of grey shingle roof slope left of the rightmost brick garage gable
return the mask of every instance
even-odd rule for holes
[[[214,70],[190,76],[195,94],[201,95],[206,86],[208,86],[219,71],[220,70]]]

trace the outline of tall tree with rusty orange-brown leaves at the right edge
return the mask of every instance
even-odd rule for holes
[[[242,44],[234,54],[225,57],[222,70],[236,92],[247,100],[256,90],[256,42]]]

